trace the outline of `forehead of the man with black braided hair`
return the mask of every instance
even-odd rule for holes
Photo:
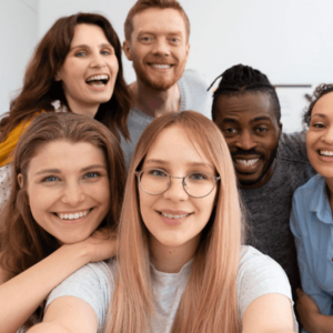
[[[251,92],[240,95],[220,95],[215,103],[216,122],[232,118],[251,121],[256,118],[269,118],[276,123],[276,115],[268,93]]]

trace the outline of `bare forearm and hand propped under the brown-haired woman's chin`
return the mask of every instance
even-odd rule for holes
[[[108,259],[114,253],[115,240],[95,232],[83,242],[61,246],[0,285],[1,333],[16,333],[48,294],[78,269],[89,262]]]

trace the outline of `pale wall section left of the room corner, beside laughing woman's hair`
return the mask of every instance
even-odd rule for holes
[[[38,0],[0,0],[0,115],[21,88],[38,41]]]

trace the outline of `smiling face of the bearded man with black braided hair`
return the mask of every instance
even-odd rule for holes
[[[282,130],[269,94],[220,95],[215,111],[215,123],[224,135],[242,188],[262,186],[274,172]]]

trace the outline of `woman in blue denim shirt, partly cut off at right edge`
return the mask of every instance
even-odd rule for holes
[[[302,332],[332,332],[333,84],[316,88],[303,122],[309,160],[319,174],[293,196],[290,222],[303,289],[297,290],[297,310]]]

